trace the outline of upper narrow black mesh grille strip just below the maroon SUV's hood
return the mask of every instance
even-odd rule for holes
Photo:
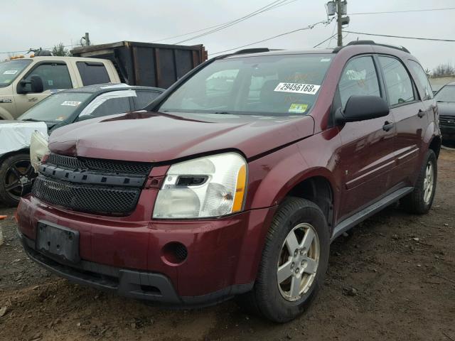
[[[104,158],[76,158],[50,153],[47,163],[70,169],[89,169],[105,173],[149,175],[151,163],[107,160]]]

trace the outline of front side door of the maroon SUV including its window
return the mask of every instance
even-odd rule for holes
[[[346,63],[334,105],[344,109],[353,94],[385,98],[373,55],[355,57]],[[338,126],[338,153],[344,176],[338,221],[378,200],[389,188],[395,164],[393,122],[390,113]]]

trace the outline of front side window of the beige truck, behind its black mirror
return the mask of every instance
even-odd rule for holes
[[[30,82],[31,76],[39,76],[43,80],[43,89],[71,89],[73,82],[71,82],[70,72],[66,64],[52,63],[52,64],[41,64],[35,67],[31,73],[25,78],[27,82]],[[27,84],[25,90],[30,91],[31,86]]]

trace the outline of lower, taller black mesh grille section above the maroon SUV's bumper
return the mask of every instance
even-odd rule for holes
[[[139,200],[139,188],[108,188],[50,180],[38,176],[32,194],[50,204],[81,212],[127,215]]]

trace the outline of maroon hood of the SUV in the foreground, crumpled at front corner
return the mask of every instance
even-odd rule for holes
[[[130,112],[55,129],[49,148],[89,158],[161,162],[238,149],[251,158],[314,132],[314,119]]]

